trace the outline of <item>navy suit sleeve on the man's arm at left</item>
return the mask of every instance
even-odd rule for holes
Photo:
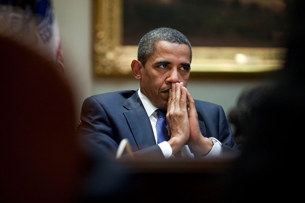
[[[94,156],[102,154],[114,159],[120,140],[114,134],[109,118],[98,100],[93,97],[84,100],[81,109],[81,121],[80,138],[85,151]],[[139,158],[164,158],[158,145],[138,150],[133,154]],[[127,155],[122,156],[122,158],[126,157]]]

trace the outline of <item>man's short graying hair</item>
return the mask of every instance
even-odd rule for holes
[[[138,60],[145,65],[147,59],[155,52],[155,43],[167,41],[177,44],[186,44],[190,48],[190,58],[192,62],[192,46],[184,34],[178,30],[161,27],[146,33],[140,40],[138,46]]]

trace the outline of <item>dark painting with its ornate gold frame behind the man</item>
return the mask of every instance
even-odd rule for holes
[[[281,0],[93,0],[93,68],[131,75],[141,37],[157,27],[192,44],[192,75],[261,74],[285,61],[287,14]]]

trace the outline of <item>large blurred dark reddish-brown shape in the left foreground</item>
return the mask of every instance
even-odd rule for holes
[[[75,202],[74,100],[54,63],[0,37],[1,202]]]

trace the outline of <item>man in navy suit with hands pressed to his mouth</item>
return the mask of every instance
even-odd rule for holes
[[[138,60],[131,62],[140,89],[87,98],[81,110],[84,142],[114,155],[127,138],[134,156],[165,159],[221,155],[238,148],[222,107],[193,100],[186,89],[191,61],[191,44],[179,31],[158,28],[146,33]],[[158,141],[157,109],[166,111],[168,137],[163,142]]]

